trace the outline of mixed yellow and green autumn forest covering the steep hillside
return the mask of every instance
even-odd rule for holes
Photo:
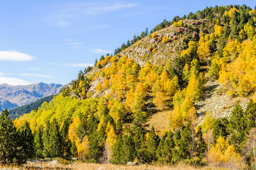
[[[102,56],[94,67],[80,71],[49,103],[13,122],[4,111],[0,123],[26,142],[12,145],[21,151],[12,154],[0,139],[7,149],[1,150],[1,161],[78,157],[112,164],[182,162],[255,169],[255,24],[255,8],[215,6],[165,20],[150,33],[146,29],[114,55]],[[174,34],[160,35],[162,30]],[[175,42],[182,43],[182,49],[167,51],[174,57],[152,59]],[[147,49],[141,60],[121,55],[138,47]],[[208,111],[199,125],[195,102],[204,97],[204,84],[216,80],[230,98],[252,99],[245,110],[237,103],[230,118],[216,118]],[[164,135],[145,126],[160,111],[169,111]],[[9,134],[0,137],[4,135]]]

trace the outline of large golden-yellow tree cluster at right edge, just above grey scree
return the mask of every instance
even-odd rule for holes
[[[250,40],[243,42],[241,45],[238,42],[233,44],[237,44],[239,47],[230,45],[232,49],[228,50],[225,55],[223,50],[223,56],[230,54],[230,60],[233,62],[226,64],[226,68],[221,69],[219,82],[233,91],[233,94],[237,93],[243,96],[255,91],[256,46]]]

